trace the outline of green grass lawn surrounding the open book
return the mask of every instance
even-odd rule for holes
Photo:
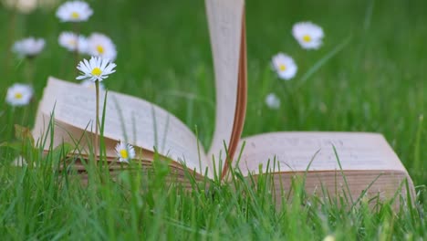
[[[206,147],[213,134],[213,66],[203,1],[90,1],[95,15],[83,34],[99,31],[118,47],[117,73],[105,81],[170,110]],[[414,206],[394,213],[390,204],[371,212],[366,204],[323,204],[297,192],[276,210],[268,175],[255,183],[234,174],[234,188],[210,183],[184,192],[168,186],[167,168],[120,175],[120,183],[89,173],[88,187],[54,173],[37,150],[26,150],[37,168],[10,165],[17,154],[0,147],[0,236],[4,239],[281,239],[421,240],[427,238],[427,16],[424,1],[247,1],[248,105],[244,136],[266,131],[375,131],[384,134],[417,186]],[[5,68],[10,12],[0,8],[2,78],[0,142],[15,140],[15,123],[31,127],[47,77],[72,80],[74,63],[57,45],[60,31],[52,11],[19,16],[14,39],[45,37],[47,48],[28,63],[9,59]],[[312,20],[326,32],[324,46],[305,51],[290,34],[292,25]],[[338,45],[349,43],[310,78],[304,74]],[[276,79],[270,59],[283,51],[295,58],[297,78]],[[33,81],[35,100],[25,108],[5,103],[13,82]],[[267,93],[282,100],[268,110]],[[24,145],[26,146],[26,145]],[[206,181],[208,182],[208,181]],[[296,190],[298,184],[296,183]],[[2,238],[3,239],[3,238]]]

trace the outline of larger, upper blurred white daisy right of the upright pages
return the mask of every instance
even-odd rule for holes
[[[292,27],[292,35],[299,45],[307,49],[318,49],[324,37],[323,29],[310,22],[297,23]]]

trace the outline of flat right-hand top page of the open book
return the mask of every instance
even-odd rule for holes
[[[405,171],[401,161],[380,134],[366,132],[272,132],[248,137],[238,167],[244,173],[270,171],[304,172],[339,170],[339,162],[346,171],[392,170]],[[238,149],[237,152],[239,152]],[[280,170],[277,168],[277,164]]]

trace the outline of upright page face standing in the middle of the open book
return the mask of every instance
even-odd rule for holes
[[[216,88],[215,129],[207,160],[212,162],[214,156],[215,161],[222,160],[224,163],[226,158],[224,141],[229,148],[238,104],[239,65],[240,61],[243,61],[241,43],[245,3],[243,0],[206,0],[205,4]],[[245,101],[243,102],[241,104],[245,105]],[[238,132],[235,135],[240,137],[240,131],[234,132]],[[219,166],[218,163],[215,165]]]

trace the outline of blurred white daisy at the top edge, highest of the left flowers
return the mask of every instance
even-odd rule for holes
[[[57,18],[62,22],[88,21],[93,11],[88,3],[83,1],[69,1],[57,8]]]

